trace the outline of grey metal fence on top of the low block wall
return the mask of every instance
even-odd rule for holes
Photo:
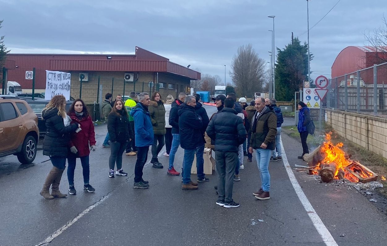
[[[387,115],[387,62],[330,80],[327,107]]]

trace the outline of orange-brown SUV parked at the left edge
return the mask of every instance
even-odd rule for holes
[[[26,101],[0,95],[0,157],[16,155],[22,164],[36,157],[38,117]]]

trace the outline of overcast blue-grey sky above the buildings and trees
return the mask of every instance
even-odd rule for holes
[[[310,0],[310,27],[338,0]],[[372,3],[372,5],[366,5]],[[382,25],[385,0],[341,0],[310,30],[312,78],[330,76],[347,46],[366,45],[364,31]],[[11,53],[134,53],[135,46],[191,65],[226,81],[238,46],[251,43],[269,61],[273,22],[275,45],[283,49],[307,31],[305,0],[0,0],[0,36]],[[299,36],[307,41],[307,34]]]

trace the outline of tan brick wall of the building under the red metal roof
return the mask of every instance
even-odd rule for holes
[[[113,99],[116,95],[123,95],[124,93],[124,74],[125,72],[88,72],[89,81],[82,82],[82,100],[86,103],[92,103],[97,100],[98,92],[98,77],[100,77],[100,84],[102,85],[102,97],[106,93],[111,93],[112,79],[114,78],[113,84]],[[134,74],[135,79],[137,79],[137,73]],[[148,84],[152,81],[154,83],[153,88],[149,88]],[[157,81],[159,83],[164,83],[165,88],[160,88],[157,86]],[[169,85],[173,84],[173,89],[168,89]],[[163,99],[165,100],[166,96],[171,94],[174,98],[181,91],[185,91],[186,87],[189,86],[190,80],[186,77],[174,75],[174,74],[164,74],[159,73],[157,78],[156,72],[139,72],[138,80],[136,82],[125,82],[125,95],[129,95],[131,91],[142,92],[143,90],[147,93],[153,93],[159,88],[159,92]],[[70,95],[74,98],[79,98],[80,91],[80,81],[79,81],[79,72],[71,72],[71,91]]]

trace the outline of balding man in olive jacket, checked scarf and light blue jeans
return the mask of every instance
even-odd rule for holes
[[[255,99],[255,109],[257,112],[252,118],[252,133],[248,151],[253,153],[253,149],[255,150],[261,174],[261,188],[253,194],[258,200],[267,200],[270,199],[269,162],[271,152],[276,148],[277,116],[274,110],[265,105],[265,99],[262,97]]]

